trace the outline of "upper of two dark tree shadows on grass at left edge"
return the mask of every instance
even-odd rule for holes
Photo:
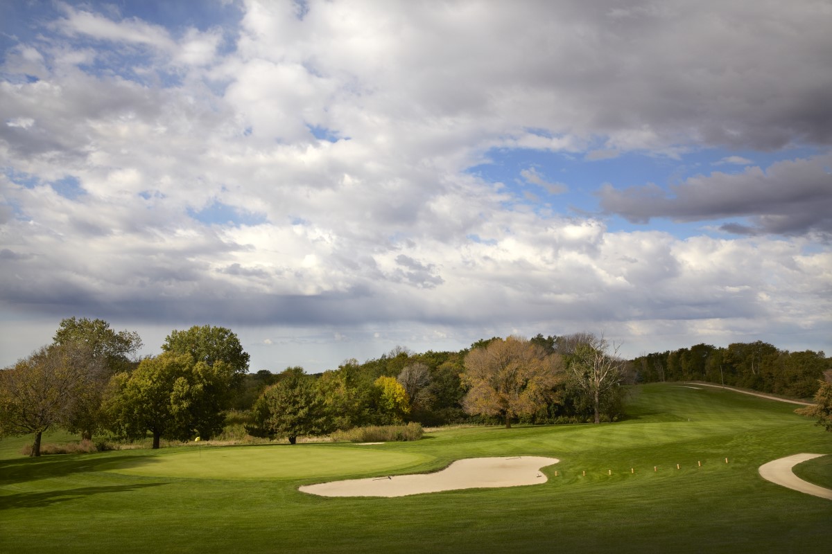
[[[0,485],[25,483],[37,479],[60,478],[72,473],[92,473],[115,468],[135,468],[146,463],[156,463],[151,456],[84,456],[68,458],[54,455],[41,458],[0,460]]]

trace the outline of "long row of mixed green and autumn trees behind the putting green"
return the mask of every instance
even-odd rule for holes
[[[299,436],[417,422],[532,424],[612,421],[622,414],[625,360],[602,336],[493,337],[462,351],[396,347],[306,374],[248,373],[249,355],[225,327],[171,331],[161,354],[106,321],[67,318],[52,343],[0,370],[0,435],[62,428],[92,439],[210,439],[231,409],[245,429],[294,444]]]

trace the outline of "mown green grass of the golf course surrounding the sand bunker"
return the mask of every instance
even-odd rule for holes
[[[814,552],[832,543],[832,502],[757,473],[793,453],[832,453],[832,434],[795,406],[664,384],[633,393],[631,418],[617,424],[448,429],[383,445],[32,459],[20,455],[24,440],[3,439],[0,552]],[[403,498],[297,490],[523,454],[561,462],[529,487]],[[829,459],[797,469],[828,486]]]

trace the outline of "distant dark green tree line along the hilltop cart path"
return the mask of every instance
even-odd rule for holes
[[[810,398],[832,360],[823,351],[781,351],[767,342],[736,342],[726,348],[698,344],[640,355],[631,361],[638,382],[701,380],[775,395]]]

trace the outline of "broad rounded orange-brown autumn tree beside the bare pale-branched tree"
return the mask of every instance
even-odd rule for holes
[[[511,428],[514,417],[533,414],[562,381],[562,358],[516,336],[494,339],[465,356],[463,399],[468,414],[498,415]]]

